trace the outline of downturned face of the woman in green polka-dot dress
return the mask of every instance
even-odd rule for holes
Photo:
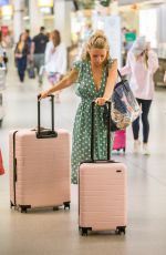
[[[106,60],[107,50],[106,49],[91,49],[89,51],[92,64],[100,67]]]

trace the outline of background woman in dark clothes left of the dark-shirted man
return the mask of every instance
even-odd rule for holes
[[[19,74],[21,82],[24,81],[28,54],[29,54],[29,45],[27,42],[27,35],[25,33],[21,33],[19,42],[17,43],[15,51],[14,51],[18,74]]]

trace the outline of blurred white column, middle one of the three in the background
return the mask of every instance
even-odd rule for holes
[[[38,7],[37,0],[29,0],[29,16],[30,16],[30,34],[34,37],[39,33],[40,27],[43,26],[43,18]]]

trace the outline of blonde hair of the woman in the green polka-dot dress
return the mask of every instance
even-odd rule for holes
[[[107,58],[110,58],[110,45],[106,35],[102,30],[96,30],[94,34],[92,34],[86,42],[83,52],[82,52],[82,60],[90,60],[89,51],[91,49],[105,49],[107,50]]]

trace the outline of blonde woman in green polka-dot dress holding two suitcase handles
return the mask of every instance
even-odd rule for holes
[[[110,47],[103,31],[96,31],[87,41],[82,59],[76,61],[69,75],[53,88],[41,93],[41,98],[79,83],[81,103],[76,111],[72,145],[72,183],[77,183],[80,162],[91,159],[91,103],[96,103],[95,157],[106,159],[106,126],[103,123],[104,103],[112,96],[117,78],[117,62],[110,58]]]

